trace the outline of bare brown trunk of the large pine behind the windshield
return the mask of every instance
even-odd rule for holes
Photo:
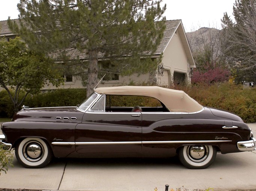
[[[94,48],[89,50],[89,67],[88,67],[88,79],[87,79],[87,94],[88,97],[93,93],[93,88],[97,85],[98,78],[98,52],[97,49]]]

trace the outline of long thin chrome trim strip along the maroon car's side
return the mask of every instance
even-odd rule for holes
[[[110,142],[52,142],[53,145],[110,145],[110,144],[166,144],[166,143],[222,143],[231,142],[227,140],[206,140],[206,141],[110,141]]]

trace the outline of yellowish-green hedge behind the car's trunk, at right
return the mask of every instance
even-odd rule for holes
[[[193,99],[203,106],[228,110],[240,116],[244,122],[256,122],[256,88],[245,88],[242,85],[229,83],[192,87],[178,87],[186,91]]]

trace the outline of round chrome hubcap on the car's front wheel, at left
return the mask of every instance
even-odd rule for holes
[[[30,162],[37,162],[44,154],[43,146],[37,141],[30,141],[23,147],[23,155]]]

